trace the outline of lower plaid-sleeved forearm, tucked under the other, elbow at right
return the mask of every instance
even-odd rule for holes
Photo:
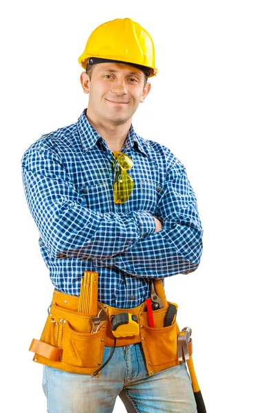
[[[99,266],[114,266],[134,277],[169,277],[187,274],[199,266],[202,253],[201,226],[175,225],[136,242],[129,251]]]

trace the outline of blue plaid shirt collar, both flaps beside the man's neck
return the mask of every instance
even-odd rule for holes
[[[83,110],[82,114],[78,118],[77,121],[77,127],[78,127],[78,134],[81,139],[83,151],[89,151],[94,145],[96,145],[96,142],[98,139],[103,140],[102,136],[98,134],[96,129],[94,129],[93,125],[89,123],[89,120],[87,119],[86,116],[87,108]],[[129,149],[130,147],[133,147],[136,142],[137,148],[144,153],[145,156],[149,156],[149,147],[146,141],[140,136],[138,136],[134,129],[133,125],[131,125],[129,129],[129,134],[126,138],[126,142],[124,144],[124,149],[125,151]]]

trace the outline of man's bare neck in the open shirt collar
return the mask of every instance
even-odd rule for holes
[[[120,151],[124,145],[129,129],[131,127],[132,118],[122,124],[102,123],[96,120],[95,116],[89,112],[89,107],[86,112],[89,123],[93,125],[94,129],[106,140],[110,151]]]

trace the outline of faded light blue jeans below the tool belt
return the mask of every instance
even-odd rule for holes
[[[100,377],[44,366],[43,390],[49,413],[109,413],[117,396],[129,413],[197,413],[186,363],[150,377],[140,343],[115,348]]]

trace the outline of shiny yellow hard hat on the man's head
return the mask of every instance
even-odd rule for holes
[[[140,24],[128,18],[107,21],[91,32],[85,51],[78,58],[83,69],[89,58],[141,66],[149,69],[148,77],[157,74],[153,39]]]

